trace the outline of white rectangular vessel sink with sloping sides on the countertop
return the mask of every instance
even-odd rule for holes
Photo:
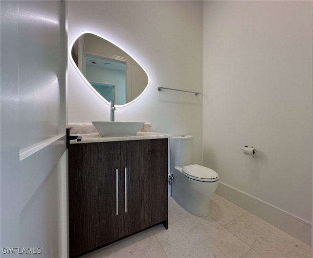
[[[101,137],[134,136],[144,125],[144,122],[92,122]]]

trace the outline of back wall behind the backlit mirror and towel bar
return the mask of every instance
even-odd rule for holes
[[[202,96],[158,86],[202,90],[201,1],[68,1],[68,45],[91,31],[126,50],[149,74],[145,93],[117,107],[116,121],[144,121],[152,131],[194,135],[194,162],[202,158]],[[70,51],[69,51],[70,52]],[[68,123],[109,120],[103,102],[68,62]]]

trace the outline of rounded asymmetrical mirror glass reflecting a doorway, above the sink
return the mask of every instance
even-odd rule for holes
[[[124,105],[148,85],[148,75],[125,51],[91,33],[81,35],[71,55],[90,86],[108,102]]]

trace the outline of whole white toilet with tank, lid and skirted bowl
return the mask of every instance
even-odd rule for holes
[[[201,217],[210,213],[210,198],[219,185],[212,169],[192,164],[193,136],[170,139],[172,198],[185,210]]]

